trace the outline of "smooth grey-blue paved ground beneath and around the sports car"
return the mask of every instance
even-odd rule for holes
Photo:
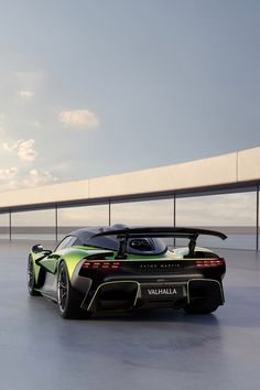
[[[52,302],[28,296],[30,245],[0,247],[1,390],[259,390],[254,252],[225,252],[227,303],[215,315],[153,310],[64,321]]]

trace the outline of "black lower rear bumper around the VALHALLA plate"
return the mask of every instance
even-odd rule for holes
[[[90,301],[87,295],[82,307],[90,312],[153,306],[183,308],[196,300],[207,300],[217,305],[225,301],[221,283],[209,279],[163,283],[117,280],[101,283]]]

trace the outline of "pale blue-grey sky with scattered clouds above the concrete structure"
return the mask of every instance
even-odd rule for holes
[[[0,10],[0,191],[260,145],[259,0]]]

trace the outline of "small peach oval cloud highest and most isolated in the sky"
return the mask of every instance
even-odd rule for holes
[[[58,120],[65,126],[86,129],[95,128],[99,124],[96,113],[89,110],[62,111],[58,115]]]

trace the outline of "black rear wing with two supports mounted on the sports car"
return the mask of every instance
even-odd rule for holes
[[[198,229],[198,228],[186,228],[186,227],[141,227],[141,228],[124,228],[117,230],[102,230],[93,237],[108,237],[117,236],[119,241],[119,249],[117,259],[126,258],[127,243],[129,238],[149,238],[149,237],[173,237],[173,238],[187,238],[188,242],[188,257],[194,256],[194,250],[196,247],[196,240],[198,236],[215,236],[226,240],[227,236],[220,231]]]

